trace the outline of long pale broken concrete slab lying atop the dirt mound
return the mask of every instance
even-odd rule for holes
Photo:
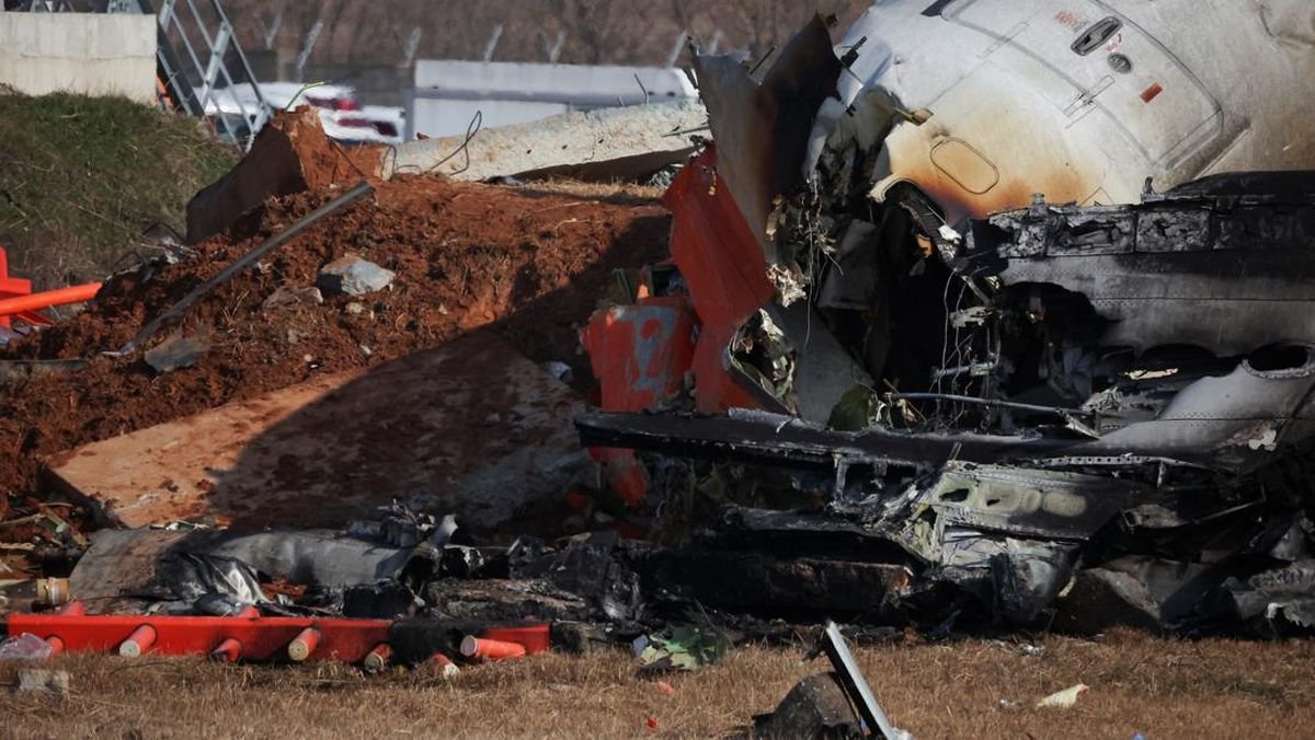
[[[694,147],[682,131],[706,121],[697,101],[563,113],[483,129],[469,141],[462,135],[405,142],[396,156],[384,156],[383,176],[635,179],[684,162]]]

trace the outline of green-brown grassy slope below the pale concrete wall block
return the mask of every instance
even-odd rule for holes
[[[97,279],[237,160],[185,116],[126,99],[0,96],[0,246],[39,288]]]

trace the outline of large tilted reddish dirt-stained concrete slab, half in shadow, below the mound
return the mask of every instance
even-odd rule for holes
[[[590,469],[569,388],[490,334],[317,377],[47,460],[105,522],[341,527],[392,501],[475,528]]]

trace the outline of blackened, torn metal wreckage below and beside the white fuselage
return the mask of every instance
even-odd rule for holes
[[[697,330],[577,418],[692,540],[659,581],[939,630],[1315,626],[1315,173],[949,221],[884,146],[931,114],[835,97],[865,41],[818,18],[760,79],[697,58],[679,275],[625,306]]]

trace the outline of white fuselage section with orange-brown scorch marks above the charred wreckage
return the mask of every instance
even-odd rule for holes
[[[813,151],[884,101],[922,109],[885,138],[873,195],[911,181],[951,221],[1315,168],[1315,0],[882,0],[838,53],[864,37]]]

